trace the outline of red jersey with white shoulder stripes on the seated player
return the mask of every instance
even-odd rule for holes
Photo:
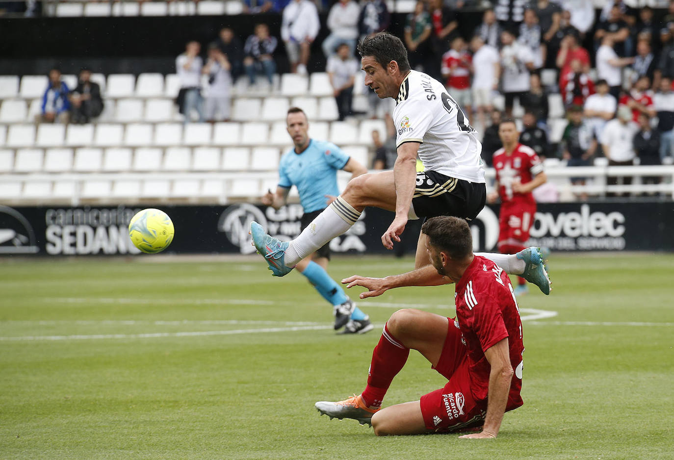
[[[485,257],[475,256],[456,284],[456,321],[466,343],[472,395],[487,399],[491,366],[485,350],[508,337],[510,364],[515,374],[510,383],[508,404],[512,410],[523,404],[522,321],[510,277]]]

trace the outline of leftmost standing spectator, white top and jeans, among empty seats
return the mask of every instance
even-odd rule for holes
[[[188,42],[185,53],[175,60],[176,73],[180,81],[178,94],[180,112],[185,116],[185,123],[191,121],[192,111],[197,112],[198,120],[204,121],[204,100],[201,94],[201,77],[203,61],[199,56],[199,42]]]

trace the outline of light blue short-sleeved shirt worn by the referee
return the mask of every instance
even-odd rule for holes
[[[281,157],[278,185],[284,189],[295,185],[306,213],[326,209],[325,195],[339,195],[337,171],[348,158],[334,143],[310,139],[301,154],[293,147]]]

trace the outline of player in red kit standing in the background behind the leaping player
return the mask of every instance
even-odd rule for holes
[[[501,121],[499,137],[503,148],[493,156],[496,191],[489,193],[487,201],[494,203],[501,197],[498,249],[502,254],[516,253],[526,247],[536,213],[536,201],[531,192],[547,181],[539,156],[519,143],[519,136],[514,120]],[[515,294],[526,294],[526,281],[522,277],[518,280]]]

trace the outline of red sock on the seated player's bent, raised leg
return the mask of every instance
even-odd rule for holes
[[[367,387],[361,397],[368,407],[378,407],[386,395],[393,378],[405,365],[410,349],[396,340],[384,325],[384,333],[372,352],[372,362],[367,376]]]

